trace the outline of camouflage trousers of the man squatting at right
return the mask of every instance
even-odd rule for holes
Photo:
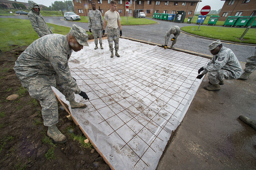
[[[208,79],[212,84],[219,84],[222,80],[234,79],[232,72],[224,69],[208,72]]]

